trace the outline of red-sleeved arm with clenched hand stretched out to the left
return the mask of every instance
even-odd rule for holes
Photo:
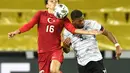
[[[38,23],[40,13],[41,13],[41,11],[38,11],[35,14],[35,16],[27,24],[23,25],[21,28],[15,30],[13,32],[8,33],[8,38],[12,38],[17,34],[20,34],[20,33],[23,33],[23,32],[30,30],[35,24]]]

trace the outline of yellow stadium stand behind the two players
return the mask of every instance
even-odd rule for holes
[[[36,26],[31,31],[18,35],[13,39],[8,39],[7,33],[27,23],[37,10],[45,9],[44,1],[22,0],[19,2],[17,0],[11,0],[10,3],[7,3],[7,1],[2,0],[0,2],[0,50],[37,50]],[[119,2],[122,3],[124,8],[117,8],[119,6],[118,4],[108,5],[112,4],[113,0],[105,2],[102,0],[97,2],[88,0],[61,0],[61,3],[65,3],[69,7],[70,12],[73,9],[81,9],[87,19],[93,19],[101,23],[106,29],[113,32],[124,50],[130,50],[130,9],[128,7],[125,8],[125,5],[128,5],[125,1]],[[70,15],[68,16],[70,18]],[[114,49],[114,45],[106,37],[99,35],[97,38],[102,50]]]

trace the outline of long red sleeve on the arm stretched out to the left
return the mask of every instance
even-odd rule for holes
[[[38,11],[27,24],[24,24],[21,28],[19,28],[20,32],[23,33],[33,28],[33,26],[38,23],[40,19],[40,14],[41,11]]]

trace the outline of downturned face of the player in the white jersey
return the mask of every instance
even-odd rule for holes
[[[81,29],[84,27],[84,18],[75,19],[72,23],[76,28]]]

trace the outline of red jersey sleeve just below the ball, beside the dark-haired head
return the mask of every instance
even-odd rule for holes
[[[70,20],[68,18],[65,18],[64,26],[71,33],[73,33],[73,34],[75,33],[75,27],[72,25],[72,23],[70,22]]]

